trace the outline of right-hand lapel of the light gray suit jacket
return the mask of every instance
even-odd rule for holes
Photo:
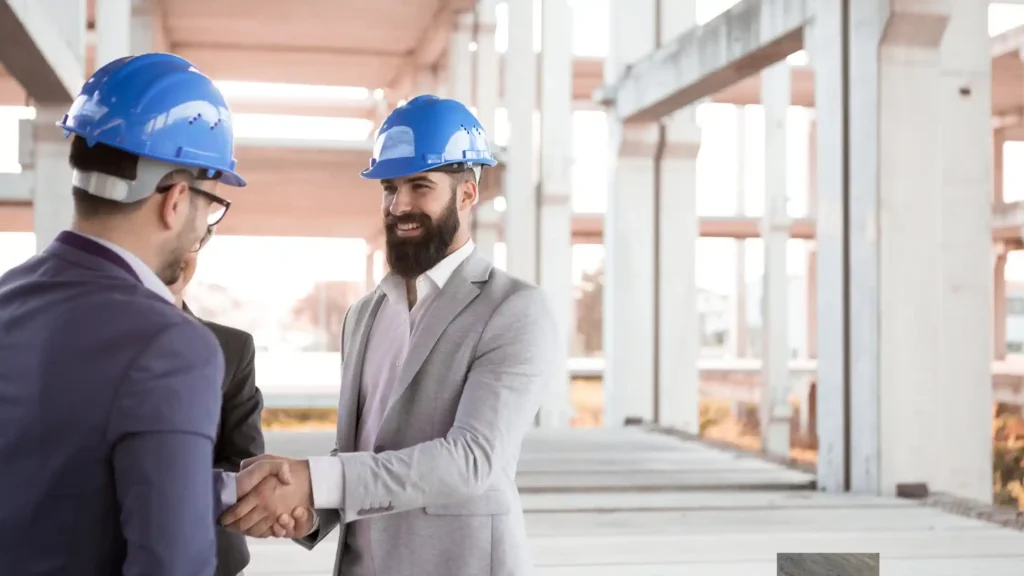
[[[410,382],[413,381],[413,376],[423,366],[427,355],[433,349],[434,344],[437,343],[437,338],[444,332],[444,329],[480,293],[480,289],[476,284],[485,282],[489,275],[489,262],[483,257],[478,256],[475,251],[452,274],[452,278],[449,279],[440,293],[437,294],[437,299],[427,308],[423,319],[419,322],[417,332],[413,334],[409,354],[406,356],[406,362],[401,365],[398,381],[391,388],[387,410],[384,412],[385,415],[391,411],[391,406],[394,405],[395,401],[409,387]]]

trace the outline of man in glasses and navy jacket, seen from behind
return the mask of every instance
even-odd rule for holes
[[[230,112],[154,53],[97,70],[58,125],[71,230],[0,278],[2,572],[212,575],[220,508],[290,481],[211,474],[224,361],[167,288],[229,206],[218,183],[246,183]]]

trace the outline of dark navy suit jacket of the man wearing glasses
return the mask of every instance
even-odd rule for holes
[[[0,277],[0,574],[214,574],[223,355],[112,262]]]

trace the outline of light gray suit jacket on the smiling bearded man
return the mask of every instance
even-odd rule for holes
[[[335,450],[343,506],[318,510],[312,547],[370,523],[376,576],[524,576],[532,566],[515,485],[523,437],[557,376],[558,331],[540,288],[474,252],[437,295],[410,345],[374,453],[354,452],[370,328],[384,293],[353,304],[342,330]]]

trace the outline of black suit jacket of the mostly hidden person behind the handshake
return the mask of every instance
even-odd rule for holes
[[[185,313],[191,315],[188,306]],[[262,454],[263,394],[256,386],[256,346],[252,334],[200,319],[224,353],[223,403],[220,430],[213,449],[213,467],[238,471],[242,460]],[[237,576],[249,565],[246,537],[217,526],[217,576]]]

